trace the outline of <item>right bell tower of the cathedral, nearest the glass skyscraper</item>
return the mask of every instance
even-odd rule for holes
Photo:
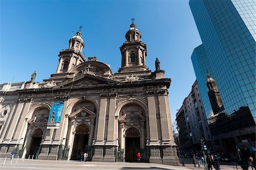
[[[130,29],[126,32],[126,42],[120,47],[122,55],[120,73],[134,72],[134,71],[147,71],[146,56],[147,46],[141,42],[141,32],[136,28],[134,19]]]

